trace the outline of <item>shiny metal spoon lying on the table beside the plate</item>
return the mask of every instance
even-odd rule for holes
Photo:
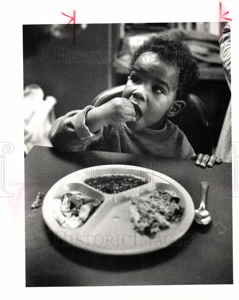
[[[207,225],[212,220],[210,213],[205,209],[205,202],[206,202],[209,183],[203,181],[201,182],[201,186],[202,186],[202,200],[199,208],[195,209],[194,220],[198,224]]]

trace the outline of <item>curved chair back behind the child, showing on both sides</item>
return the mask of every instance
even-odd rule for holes
[[[93,100],[92,105],[98,107],[113,98],[121,97],[124,87],[125,85],[119,85],[103,91]],[[199,98],[190,94],[184,110],[171,118],[170,121],[178,125],[181,131],[184,132],[196,154],[212,154],[207,110]]]

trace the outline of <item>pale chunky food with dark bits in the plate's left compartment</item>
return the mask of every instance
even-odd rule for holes
[[[81,226],[102,201],[81,193],[66,193],[61,199],[53,199],[55,219],[62,227]]]

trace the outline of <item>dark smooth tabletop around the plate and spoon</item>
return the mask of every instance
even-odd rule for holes
[[[38,192],[47,193],[62,177],[93,165],[127,164],[170,176],[201,200],[201,181],[210,183],[207,226],[195,222],[173,245],[152,253],[113,256],[91,253],[57,238],[41,208],[32,210]],[[34,146],[25,158],[26,286],[137,286],[232,284],[232,165],[202,169],[195,161],[90,151],[60,153]]]

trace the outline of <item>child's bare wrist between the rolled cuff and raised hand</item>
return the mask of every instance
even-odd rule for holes
[[[89,110],[85,117],[85,125],[89,128],[91,133],[95,133],[104,125],[107,125],[105,110],[99,107]]]

